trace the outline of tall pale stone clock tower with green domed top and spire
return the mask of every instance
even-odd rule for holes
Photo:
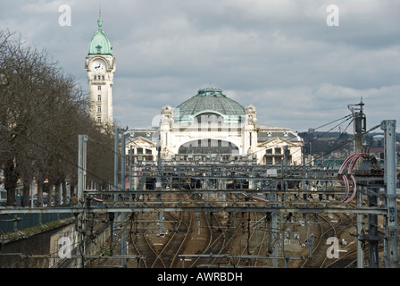
[[[89,85],[89,111],[99,124],[113,124],[112,83],[116,70],[112,46],[102,29],[101,13],[97,20],[98,29],[89,44],[85,60]]]

